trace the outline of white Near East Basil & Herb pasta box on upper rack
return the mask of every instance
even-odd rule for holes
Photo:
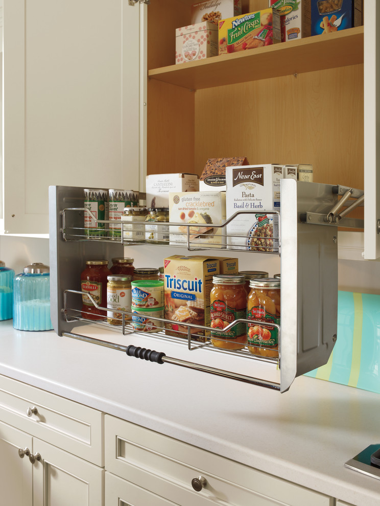
[[[248,165],[226,169],[227,248],[278,252],[282,165]],[[267,213],[268,212],[268,213]]]

